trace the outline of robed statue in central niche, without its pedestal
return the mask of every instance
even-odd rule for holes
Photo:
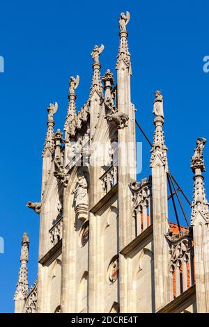
[[[88,205],[88,184],[86,181],[86,178],[84,175],[79,176],[77,186],[72,191],[75,195],[75,208],[78,207],[78,205]]]

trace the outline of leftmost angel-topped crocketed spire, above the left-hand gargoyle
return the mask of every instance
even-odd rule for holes
[[[49,150],[49,152],[54,152],[54,141],[53,141],[53,137],[54,137],[54,113],[56,113],[58,109],[58,104],[57,102],[55,102],[55,104],[49,104],[49,107],[47,108],[48,111],[48,120],[47,120],[47,135],[45,138],[45,144],[44,144],[44,148],[42,150],[42,157],[44,157],[45,152],[47,151],[47,149]]]

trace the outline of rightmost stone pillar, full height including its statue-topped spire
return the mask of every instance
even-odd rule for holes
[[[191,163],[194,173],[191,225],[194,235],[196,306],[199,313],[209,312],[209,211],[202,175],[205,171],[203,160],[205,143],[206,138],[196,140]]]

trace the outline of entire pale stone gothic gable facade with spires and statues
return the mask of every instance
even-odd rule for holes
[[[90,94],[79,111],[80,78],[70,77],[64,134],[54,130],[58,104],[47,108],[40,202],[27,203],[40,214],[38,280],[29,290],[24,233],[15,312],[209,312],[206,139],[196,141],[192,157],[191,225],[178,229],[169,223],[160,91],[151,175],[136,180],[129,21],[130,13],[121,13],[115,77],[110,70],[101,77],[104,45],[93,48]]]

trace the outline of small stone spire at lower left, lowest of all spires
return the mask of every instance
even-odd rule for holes
[[[17,288],[14,296],[15,300],[15,313],[22,312],[24,307],[24,302],[29,292],[29,282],[28,282],[28,269],[27,262],[29,261],[29,237],[26,232],[24,232],[22,237],[22,248],[20,255],[20,271],[19,278],[17,282]]]

